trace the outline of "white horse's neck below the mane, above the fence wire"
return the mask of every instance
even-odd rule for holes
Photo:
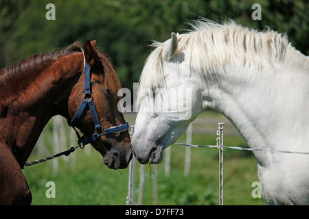
[[[288,61],[263,70],[234,66],[216,78],[217,86],[208,88],[207,92],[212,105],[231,121],[249,146],[306,151],[304,145],[309,146],[308,69]],[[272,159],[268,155],[255,153],[265,164]]]

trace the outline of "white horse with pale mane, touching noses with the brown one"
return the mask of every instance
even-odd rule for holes
[[[225,115],[251,148],[308,153],[309,57],[270,29],[207,20],[192,27],[155,42],[141,73],[132,138],[139,162],[161,162],[205,107]],[[186,94],[170,92],[179,89]],[[309,204],[309,155],[253,153],[266,204]]]

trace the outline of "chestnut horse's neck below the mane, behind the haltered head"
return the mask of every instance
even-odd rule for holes
[[[49,119],[69,118],[67,103],[82,73],[82,53],[47,60],[45,66],[0,88],[0,144],[11,149],[21,167]]]

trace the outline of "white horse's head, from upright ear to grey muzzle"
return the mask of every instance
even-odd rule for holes
[[[173,144],[203,110],[202,79],[191,77],[190,64],[177,50],[178,38],[155,43],[139,83],[139,114],[132,145],[141,164],[158,164],[163,150]],[[199,91],[199,92],[198,92]]]

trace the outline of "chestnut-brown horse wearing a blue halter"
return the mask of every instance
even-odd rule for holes
[[[82,53],[84,51],[84,55]],[[52,116],[71,121],[84,99],[84,59],[91,69],[91,95],[104,129],[123,125],[117,110],[119,79],[111,62],[87,40],[32,55],[0,70],[0,204],[30,204],[32,195],[21,171]],[[76,127],[89,138],[95,130],[86,107]],[[100,134],[91,142],[108,168],[126,168],[132,157],[128,131]]]

